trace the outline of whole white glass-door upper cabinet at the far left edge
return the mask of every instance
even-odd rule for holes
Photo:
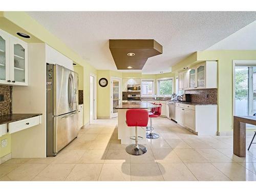
[[[28,45],[0,30],[0,84],[28,86]]]

